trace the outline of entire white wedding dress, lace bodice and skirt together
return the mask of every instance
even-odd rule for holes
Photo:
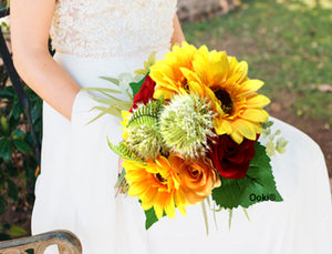
[[[55,61],[82,87],[110,87],[101,75],[117,77],[143,67],[152,51],[169,50],[176,0],[60,0],[51,35]],[[126,99],[126,98],[122,98]],[[84,254],[331,254],[331,194],[324,158],[304,133],[277,119],[288,151],[272,158],[283,202],[263,202],[234,212],[209,213],[205,231],[200,205],[187,216],[162,219],[145,231],[138,201],[118,195],[118,158],[106,142],[121,141],[120,119],[106,115],[85,125],[97,103],[81,91],[72,121],[43,104],[41,174],[35,184],[32,234],[70,230]],[[46,253],[58,253],[51,247]]]

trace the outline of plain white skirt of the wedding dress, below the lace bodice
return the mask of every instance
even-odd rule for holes
[[[166,52],[158,52],[162,58]],[[55,61],[82,87],[108,87],[100,77],[116,78],[143,67],[148,54],[91,59],[56,53]],[[145,231],[145,215],[137,199],[117,195],[114,189],[118,156],[107,146],[122,140],[120,119],[90,111],[97,103],[87,92],[74,101],[72,121],[43,102],[41,174],[35,183],[32,234],[70,230],[79,236],[83,254],[331,254],[332,206],[324,156],[308,135],[277,119],[289,140],[287,153],[272,158],[277,186],[283,202],[263,202],[228,212],[209,212],[206,234],[200,205],[187,216],[164,217]],[[58,253],[50,247],[46,253]]]

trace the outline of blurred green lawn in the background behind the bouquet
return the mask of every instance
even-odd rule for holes
[[[332,93],[319,89],[332,80],[330,0],[249,0],[232,13],[183,28],[190,43],[247,61],[249,77],[266,82],[261,91],[272,101],[332,125]]]

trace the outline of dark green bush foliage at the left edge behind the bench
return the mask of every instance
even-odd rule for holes
[[[1,81],[7,82],[6,72],[1,74]],[[34,131],[41,140],[42,100],[28,87],[24,91],[30,102]],[[0,90],[0,216],[7,212],[8,206],[22,210],[25,206],[24,211],[27,207],[31,211],[38,169],[34,149],[31,131],[13,87],[6,85]],[[19,225],[11,225],[12,221],[1,223],[4,222],[0,220],[1,240],[28,234]]]

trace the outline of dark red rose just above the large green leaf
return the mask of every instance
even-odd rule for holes
[[[249,169],[249,163],[255,156],[256,141],[243,139],[236,143],[229,135],[220,135],[210,142],[209,156],[215,167],[225,179],[241,179]]]

